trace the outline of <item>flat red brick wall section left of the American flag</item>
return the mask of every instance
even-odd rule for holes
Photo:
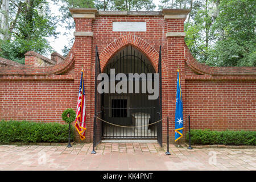
[[[1,119],[63,123],[61,114],[76,108],[72,80],[0,80]]]

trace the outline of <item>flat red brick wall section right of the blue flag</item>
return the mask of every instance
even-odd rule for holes
[[[183,103],[191,128],[255,131],[255,88],[255,80],[186,80]]]

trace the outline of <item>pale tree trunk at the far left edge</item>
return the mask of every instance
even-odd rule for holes
[[[0,34],[0,38],[5,40],[9,36],[9,0],[2,0],[2,17],[1,17],[1,30],[2,33]]]

